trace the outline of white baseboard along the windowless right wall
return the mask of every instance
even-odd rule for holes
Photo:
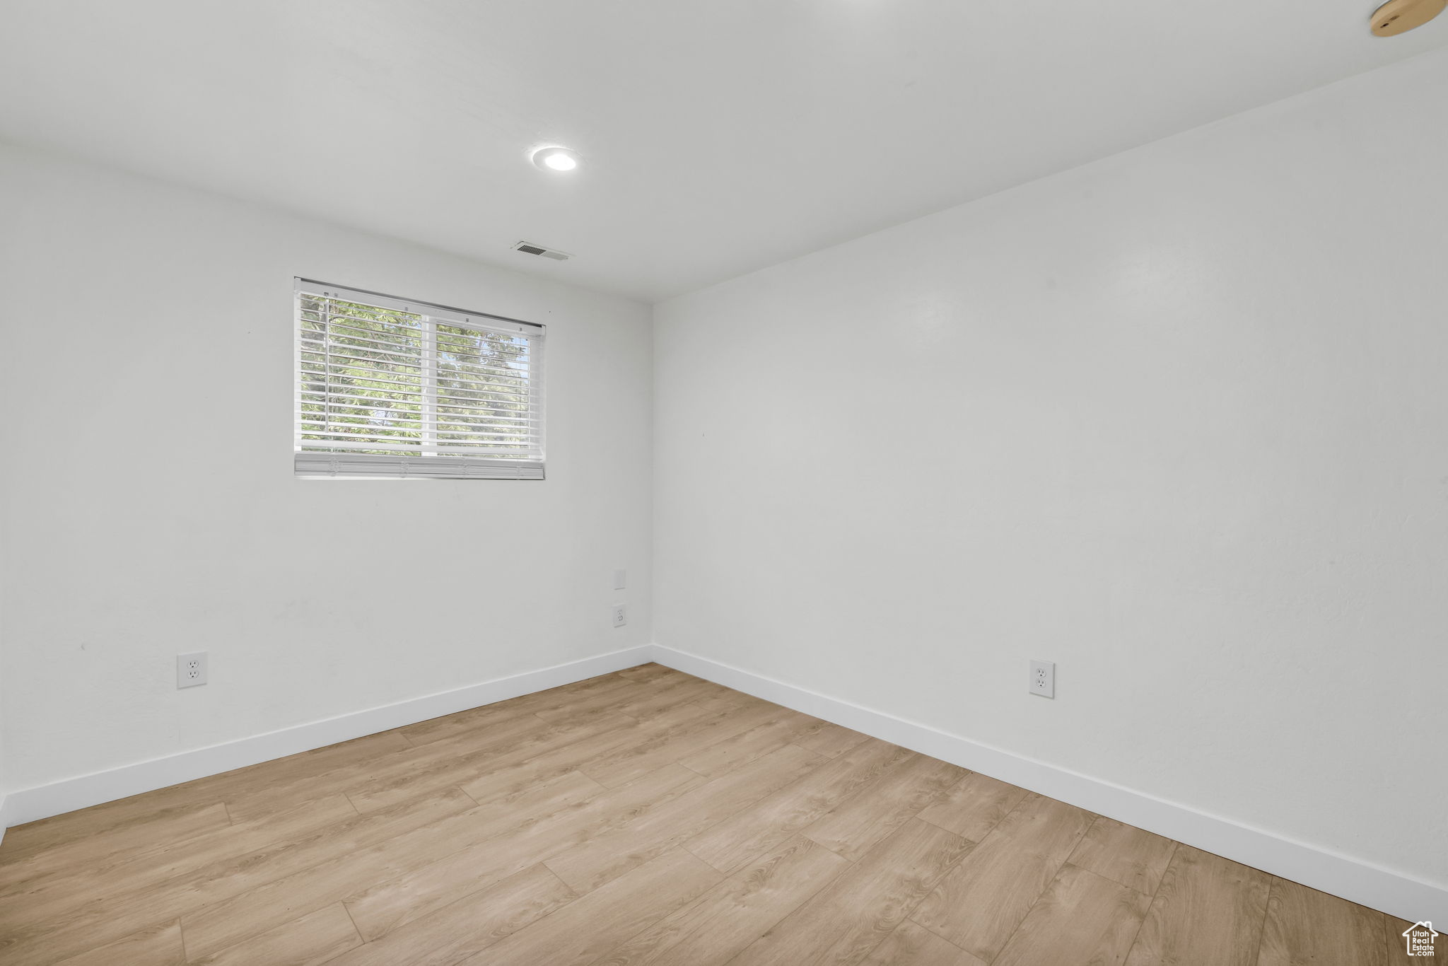
[[[1368,908],[1392,912],[1409,923],[1448,923],[1448,889],[1390,869],[663,644],[653,646],[653,659],[725,688],[1028,788]]]

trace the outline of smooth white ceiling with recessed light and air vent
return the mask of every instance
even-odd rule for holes
[[[1448,43],[1373,6],[0,0],[0,136],[656,300]]]

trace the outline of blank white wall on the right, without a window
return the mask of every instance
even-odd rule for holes
[[[1438,52],[656,307],[656,642],[1448,885],[1445,104]]]

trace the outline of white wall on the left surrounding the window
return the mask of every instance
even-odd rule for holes
[[[0,211],[10,791],[650,640],[647,306],[16,148]],[[547,481],[294,479],[294,275],[546,323]]]

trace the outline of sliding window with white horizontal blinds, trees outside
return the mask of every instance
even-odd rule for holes
[[[297,280],[298,476],[543,479],[543,326]]]

